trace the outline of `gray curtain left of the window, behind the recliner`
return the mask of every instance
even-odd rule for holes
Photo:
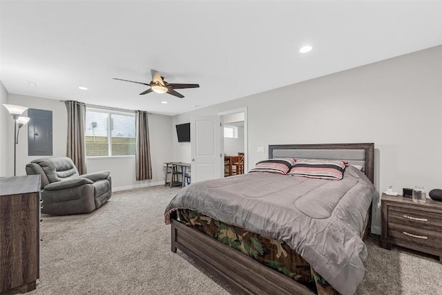
[[[84,124],[86,105],[68,100],[64,102],[68,109],[68,149],[67,156],[77,166],[80,174],[86,173],[86,152],[84,146]]]

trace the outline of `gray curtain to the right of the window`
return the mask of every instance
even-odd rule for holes
[[[152,179],[151,146],[149,144],[149,127],[147,112],[135,112],[136,146],[135,175],[137,180]]]

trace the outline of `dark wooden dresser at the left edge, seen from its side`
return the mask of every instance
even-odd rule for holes
[[[0,178],[0,293],[39,278],[40,175]]]

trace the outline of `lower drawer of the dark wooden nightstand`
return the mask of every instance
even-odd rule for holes
[[[442,250],[442,232],[423,229],[423,227],[410,227],[394,222],[388,223],[388,238],[402,240],[410,245],[421,245]]]

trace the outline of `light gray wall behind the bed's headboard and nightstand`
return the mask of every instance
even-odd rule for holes
[[[175,115],[173,124],[244,106],[249,169],[269,144],[374,142],[379,191],[442,188],[442,46]],[[173,140],[174,160],[189,162],[190,148]]]

